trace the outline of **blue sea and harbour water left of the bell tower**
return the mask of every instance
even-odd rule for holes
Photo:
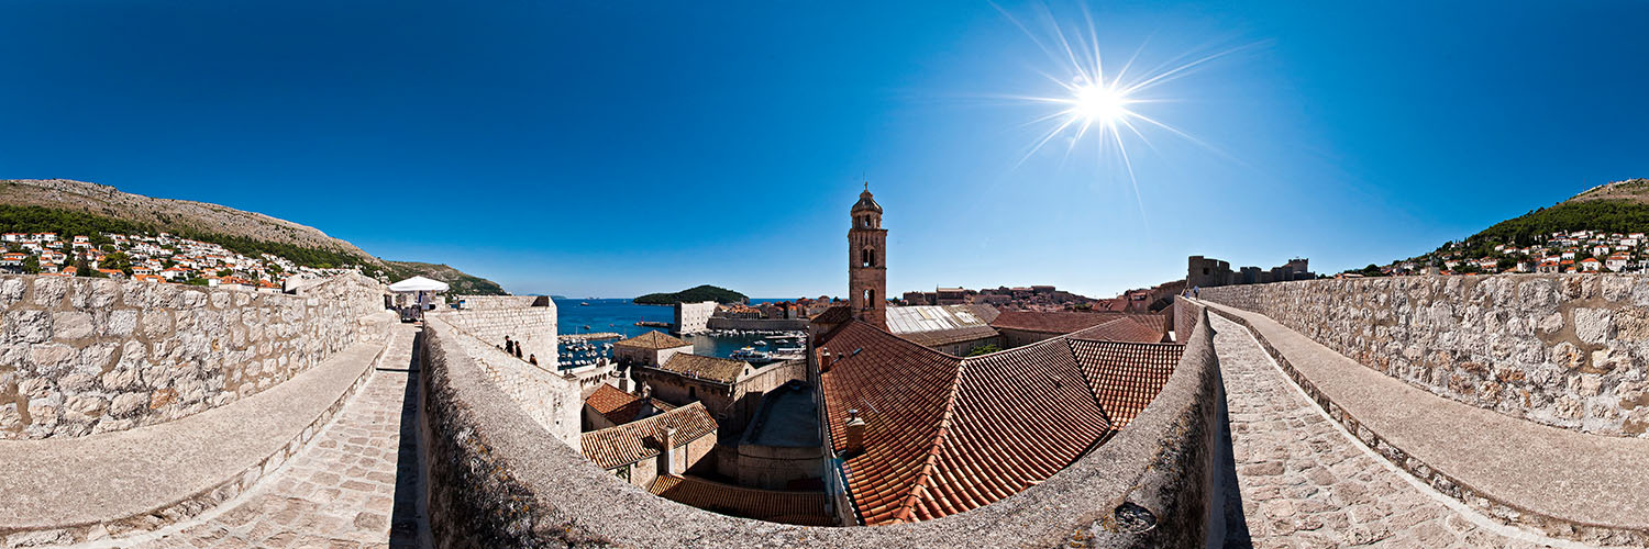
[[[676,320],[676,310],[673,307],[660,305],[637,305],[628,298],[562,298],[556,300],[556,333],[590,333],[590,331],[613,331],[622,333],[625,338],[633,338],[643,335],[650,330],[658,330],[669,333],[669,328],[646,328],[637,326],[640,320],[671,323]],[[785,302],[785,298],[750,298],[750,305]],[[589,303],[589,305],[582,305]],[[589,326],[589,328],[585,328]],[[762,335],[691,335],[683,336],[683,340],[693,343],[693,354],[704,356],[721,356],[731,358],[732,351],[744,346],[752,346],[755,341],[767,340]],[[602,341],[612,343],[612,341]],[[760,350],[772,350],[773,341]]]

